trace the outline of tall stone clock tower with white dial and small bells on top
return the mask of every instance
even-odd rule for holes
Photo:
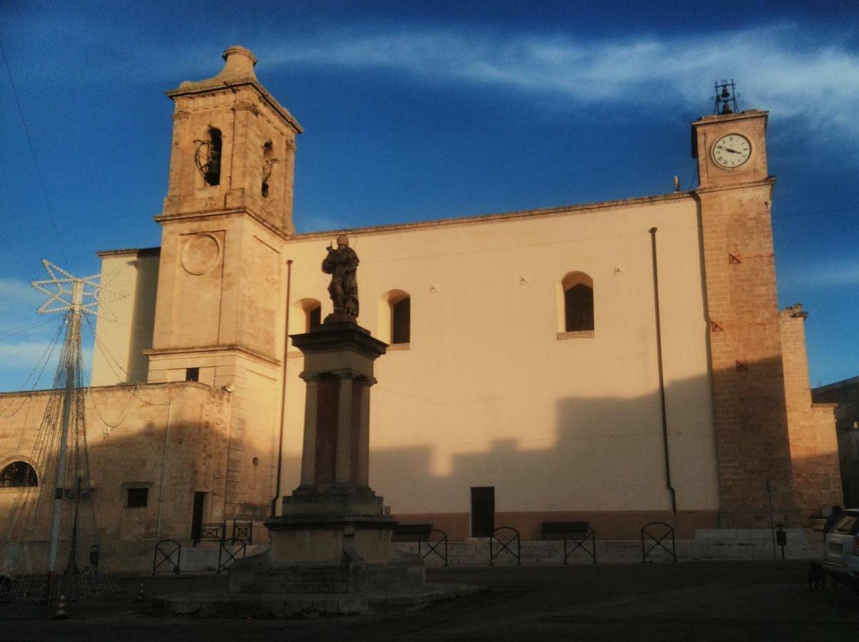
[[[728,94],[725,86],[719,93]],[[727,104],[727,103],[725,103]],[[734,103],[735,104],[735,103]],[[767,112],[692,123],[722,528],[798,525],[784,397],[767,172]]]

